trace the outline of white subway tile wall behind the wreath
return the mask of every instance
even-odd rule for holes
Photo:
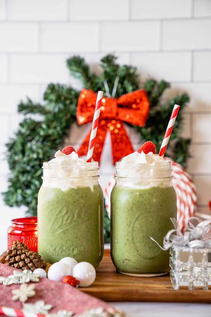
[[[171,82],[163,98],[187,92],[182,135],[190,137],[187,170],[195,182],[197,211],[210,214],[211,200],[211,1],[210,0],[0,0],[0,189],[7,190],[5,143],[14,135],[26,96],[36,102],[50,82],[81,88],[66,67],[74,54],[92,70],[115,53],[120,64],[138,68],[140,78]],[[74,125],[66,144],[79,146],[89,126]],[[134,147],[139,136],[128,129]],[[114,172],[108,134],[101,161],[103,188]],[[0,199],[0,235],[26,208]],[[6,246],[5,246],[6,248]]]

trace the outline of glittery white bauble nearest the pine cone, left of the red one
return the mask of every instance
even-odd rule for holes
[[[62,281],[67,275],[72,275],[72,269],[62,262],[53,263],[48,270],[48,279],[52,281]]]

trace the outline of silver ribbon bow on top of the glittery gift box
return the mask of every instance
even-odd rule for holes
[[[170,218],[174,224],[175,229],[169,230],[167,235],[163,239],[163,248],[150,237],[158,246],[166,251],[174,246],[189,247],[189,248],[211,248],[211,219],[202,221],[198,217],[190,217],[187,220],[186,228],[189,231],[185,231],[184,235],[175,218]],[[191,223],[192,220],[198,222],[196,226]],[[176,232],[177,235],[173,234]]]

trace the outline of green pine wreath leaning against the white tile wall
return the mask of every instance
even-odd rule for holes
[[[162,102],[165,89],[170,88],[168,82],[148,78],[140,83],[137,68],[120,66],[116,59],[117,57],[112,54],[104,56],[101,59],[99,74],[91,72],[90,66],[80,56],[72,56],[66,63],[71,75],[78,78],[84,88],[94,92],[98,90],[106,92],[103,81],[107,82],[109,90],[112,91],[117,76],[119,81],[115,97],[140,88],[145,89],[150,101],[150,113],[144,127],[132,126],[132,128],[140,135],[140,140],[143,142],[151,140],[157,149],[161,146],[173,106],[179,104],[180,111],[171,133],[166,156],[186,166],[190,157],[190,139],[184,139],[180,134],[183,126],[183,109],[189,101],[188,95],[177,94],[170,100]],[[10,169],[8,190],[3,193],[6,205],[11,207],[24,205],[28,208],[27,216],[37,214],[37,195],[42,183],[42,163],[53,158],[55,151],[63,147],[72,124],[77,123],[76,108],[79,93],[71,86],[50,83],[44,93],[43,104],[34,103],[28,98],[27,102],[20,102],[18,105],[18,112],[25,117],[19,124],[15,137],[9,139],[6,144],[6,158]],[[40,114],[42,120],[34,119],[34,114]],[[104,220],[105,241],[109,241],[110,221],[106,210]]]

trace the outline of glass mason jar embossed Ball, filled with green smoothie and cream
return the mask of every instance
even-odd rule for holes
[[[103,192],[98,162],[43,163],[38,193],[38,253],[46,262],[72,257],[97,268],[103,256]]]

